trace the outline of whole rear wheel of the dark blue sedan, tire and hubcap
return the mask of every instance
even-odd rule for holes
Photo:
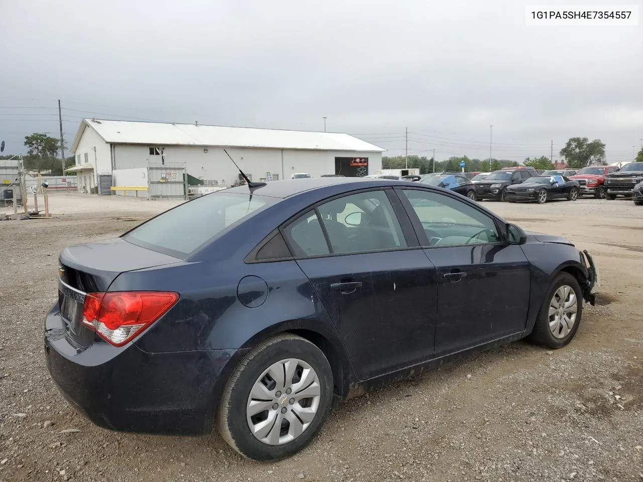
[[[323,352],[293,334],[278,335],[237,366],[221,397],[219,433],[251,460],[300,451],[328,415],[332,371]]]

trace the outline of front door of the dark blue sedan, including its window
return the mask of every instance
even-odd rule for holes
[[[529,261],[491,215],[443,193],[396,188],[438,285],[437,356],[525,329]]]

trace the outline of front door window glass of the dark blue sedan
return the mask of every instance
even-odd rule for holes
[[[453,246],[501,242],[493,218],[453,197],[421,190],[402,190],[422,224],[428,245]],[[413,216],[413,213],[409,215]]]

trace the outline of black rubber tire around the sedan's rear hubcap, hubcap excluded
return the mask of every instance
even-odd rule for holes
[[[312,422],[302,434],[282,445],[268,445],[255,438],[250,431],[246,418],[248,397],[264,370],[276,362],[293,358],[306,362],[317,373],[320,403]],[[332,387],[331,366],[319,348],[297,335],[277,335],[252,350],[228,380],[217,411],[219,433],[230,447],[250,460],[275,461],[287,458],[303,449],[320,429],[331,407]]]

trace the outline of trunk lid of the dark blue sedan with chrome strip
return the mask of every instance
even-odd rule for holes
[[[69,342],[82,351],[94,341],[94,332],[82,324],[87,293],[107,291],[116,276],[123,272],[177,262],[181,260],[122,238],[64,249],[59,259],[58,303]]]

